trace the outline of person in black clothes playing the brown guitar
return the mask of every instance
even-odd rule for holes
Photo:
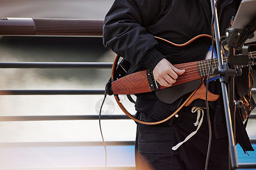
[[[232,24],[239,5],[237,0],[218,2],[221,36]],[[210,35],[211,18],[209,0],[115,0],[105,17],[103,41],[106,48],[130,63],[127,74],[149,69],[160,85],[171,87],[177,77],[185,73],[173,65],[205,59],[211,40],[202,37],[186,46],[176,47],[156,40],[154,36],[183,44],[197,35]],[[243,125],[255,107],[250,93],[253,78],[249,67],[242,71],[242,76],[236,78],[236,97],[243,101],[243,107],[236,113],[236,141],[244,151],[253,151]],[[209,103],[213,137],[208,169],[228,169],[228,137],[218,79],[210,82],[209,88],[220,97]],[[138,94],[136,116],[147,122],[163,120],[187,96],[167,104],[156,97],[155,92]],[[137,124],[137,169],[204,169],[208,148],[208,124],[204,113],[205,101],[196,99],[167,122]]]

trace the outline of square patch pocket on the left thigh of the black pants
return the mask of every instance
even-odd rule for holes
[[[146,154],[172,154],[174,128],[172,126],[139,126],[138,152]]]

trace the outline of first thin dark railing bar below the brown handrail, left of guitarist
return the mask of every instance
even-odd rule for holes
[[[112,62],[0,62],[0,68],[2,69],[110,69],[112,65]]]

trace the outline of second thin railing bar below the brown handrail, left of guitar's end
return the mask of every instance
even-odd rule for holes
[[[105,90],[0,90],[0,95],[104,95]]]

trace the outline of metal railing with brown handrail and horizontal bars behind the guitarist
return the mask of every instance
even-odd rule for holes
[[[3,36],[102,36],[103,20],[0,18]],[[104,62],[0,62],[0,69],[105,68]],[[256,94],[256,88],[252,90]],[[103,95],[104,90],[0,90],[1,95]],[[250,118],[256,118],[251,114]],[[129,119],[125,115],[102,117],[104,120]],[[0,116],[0,121],[98,120],[97,115],[68,116]],[[256,139],[251,139],[256,143]],[[0,143],[0,147],[97,146],[101,142],[20,142]],[[106,142],[106,145],[134,145],[134,141]],[[256,163],[240,163],[239,168],[256,168]],[[116,168],[113,168],[116,169]],[[134,167],[127,167],[134,169]]]

